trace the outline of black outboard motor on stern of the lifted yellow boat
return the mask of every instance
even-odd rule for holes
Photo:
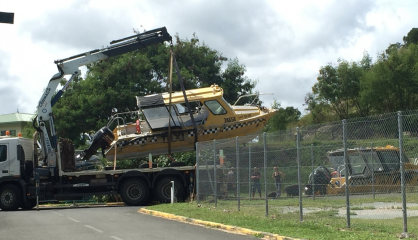
[[[115,140],[115,135],[113,135],[113,132],[110,131],[108,127],[102,127],[93,135],[93,142],[91,143],[90,147],[84,150],[83,160],[89,160],[92,155],[96,154],[97,149],[99,148],[102,149],[102,154],[104,157],[104,150],[110,146],[113,140]]]

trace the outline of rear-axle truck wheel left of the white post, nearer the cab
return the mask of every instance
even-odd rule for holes
[[[123,183],[120,195],[129,206],[144,205],[149,198],[149,188],[143,181],[132,179]]]

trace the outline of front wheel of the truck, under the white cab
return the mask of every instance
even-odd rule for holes
[[[0,208],[15,211],[22,204],[22,191],[15,185],[7,184],[0,189]]]

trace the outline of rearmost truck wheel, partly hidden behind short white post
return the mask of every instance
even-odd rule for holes
[[[157,183],[155,196],[161,203],[171,202],[171,181],[174,181],[174,197],[184,200],[184,187],[176,178],[163,178]]]

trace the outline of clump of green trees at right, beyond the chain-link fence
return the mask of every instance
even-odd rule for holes
[[[339,59],[319,69],[312,92],[305,96],[303,123],[365,117],[418,108],[418,28],[377,56],[365,52],[359,62]],[[300,125],[300,124],[299,124]]]

